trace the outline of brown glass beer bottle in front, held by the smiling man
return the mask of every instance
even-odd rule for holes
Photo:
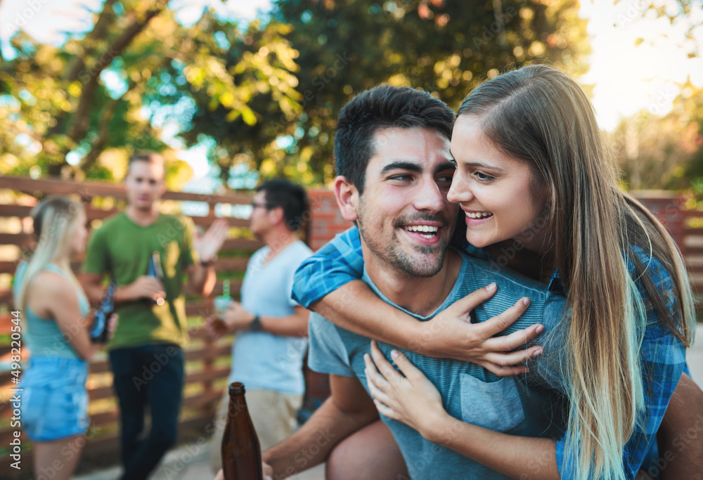
[[[240,382],[229,386],[227,425],[222,435],[222,472],[225,480],[264,480],[259,437]]]

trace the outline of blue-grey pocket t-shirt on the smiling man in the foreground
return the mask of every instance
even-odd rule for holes
[[[462,258],[462,268],[453,290],[437,311],[427,317],[420,317],[408,311],[406,313],[418,320],[429,320],[454,301],[491,282],[496,282],[496,294],[477,306],[472,312],[472,322],[488,320],[502,313],[520,297],[531,299],[529,309],[505,332],[514,332],[542,322],[548,294],[546,286],[527,278],[496,271],[494,265],[468,257],[464,252],[457,253]],[[366,272],[363,280],[384,301],[400,308],[378,291]],[[367,337],[337,327],[316,313],[311,313],[310,316],[309,335],[308,364],[312,370],[358,377],[368,391],[366,376],[363,373],[363,354],[370,352],[370,340]],[[418,342],[421,341],[422,339],[418,339]],[[379,346],[386,358],[390,358],[390,351],[397,348],[384,342],[379,342]],[[562,395],[549,388],[546,382],[535,381],[527,375],[498,377],[473,363],[449,358],[430,358],[413,351],[399,350],[437,387],[444,408],[453,417],[512,435],[552,439],[562,437],[566,403]],[[508,478],[460,453],[425,440],[406,424],[383,415],[381,419],[393,433],[413,480]],[[456,433],[447,432],[447,435],[452,434]]]

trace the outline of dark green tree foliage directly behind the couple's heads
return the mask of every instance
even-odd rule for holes
[[[254,125],[201,110],[186,138],[214,138],[223,167],[247,162],[263,176],[329,181],[335,119],[356,93],[380,83],[412,86],[456,108],[470,89],[508,67],[548,62],[582,74],[589,48],[577,11],[566,0],[278,0],[263,30],[251,26],[246,44],[232,45],[230,61],[266,48],[266,31],[275,28],[299,53],[302,110],[273,108]]]

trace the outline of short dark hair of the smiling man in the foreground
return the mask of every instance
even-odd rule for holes
[[[454,112],[426,91],[380,85],[352,98],[340,111],[335,134],[335,167],[363,193],[366,167],[375,153],[373,135],[380,129],[434,129],[451,138]]]

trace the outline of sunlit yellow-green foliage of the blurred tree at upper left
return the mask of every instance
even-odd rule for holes
[[[212,25],[219,24],[212,12],[184,27],[168,4],[105,0],[92,30],[59,48],[21,32],[13,38],[18,56],[0,64],[1,174],[39,168],[50,176],[119,178],[115,171],[120,165],[124,171],[134,150],[167,150],[160,128],[164,119],[155,116],[167,111],[169,121],[187,124],[196,110],[220,109],[226,122],[254,124],[258,114],[251,104],[264,91],[262,84],[275,97],[275,105],[267,108],[299,108],[290,86],[296,53],[273,30],[266,41],[280,65],[272,69],[269,56],[256,55],[227,65],[226,49],[212,36]],[[219,30],[236,28],[222,22]],[[237,72],[243,74],[242,82],[235,82]],[[274,86],[274,78],[285,81]],[[111,149],[121,160],[107,155],[105,166]],[[71,152],[82,159],[76,167],[67,163]],[[172,176],[182,178],[179,170],[188,169],[187,164],[179,165],[172,152],[166,156]]]

